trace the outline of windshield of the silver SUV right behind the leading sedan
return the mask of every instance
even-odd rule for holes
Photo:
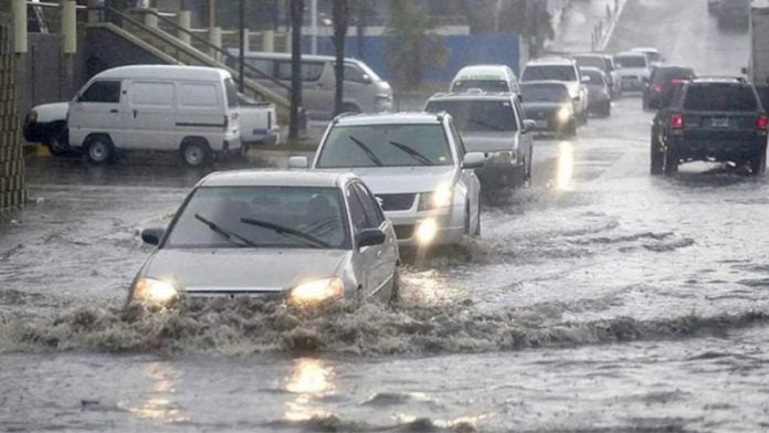
[[[335,126],[317,168],[450,166],[451,149],[440,124]]]

